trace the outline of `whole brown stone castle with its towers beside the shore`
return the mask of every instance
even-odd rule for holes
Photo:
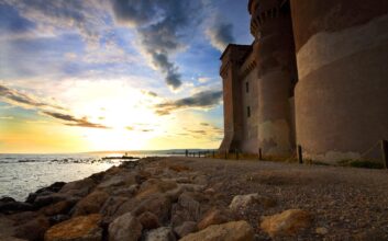
[[[220,151],[380,159],[388,139],[388,1],[250,0],[252,45],[221,56]]]

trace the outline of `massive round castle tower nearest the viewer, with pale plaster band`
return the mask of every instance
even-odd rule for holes
[[[304,157],[379,159],[375,145],[388,139],[388,1],[291,0],[291,10]]]

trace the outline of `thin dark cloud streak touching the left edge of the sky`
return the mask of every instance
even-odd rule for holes
[[[52,107],[57,110],[65,110],[60,106],[42,102],[34,96],[24,94],[18,90],[10,89],[2,84],[0,84],[0,97],[4,99],[11,104],[22,105],[24,107]]]

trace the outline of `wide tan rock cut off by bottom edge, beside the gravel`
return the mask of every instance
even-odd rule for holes
[[[199,232],[185,236],[180,241],[253,241],[254,231],[246,221],[213,225]]]

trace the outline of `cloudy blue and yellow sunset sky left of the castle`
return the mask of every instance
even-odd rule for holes
[[[0,0],[0,153],[218,148],[247,0]]]

